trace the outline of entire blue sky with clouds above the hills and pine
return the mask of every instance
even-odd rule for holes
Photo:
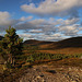
[[[0,0],[0,35],[12,26],[24,40],[82,36],[82,0]]]

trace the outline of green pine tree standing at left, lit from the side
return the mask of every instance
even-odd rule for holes
[[[5,52],[7,62],[11,66],[14,66],[15,56],[22,52],[22,42],[23,39],[16,35],[16,31],[13,27],[9,27],[4,35],[4,38],[1,40],[2,50]]]

